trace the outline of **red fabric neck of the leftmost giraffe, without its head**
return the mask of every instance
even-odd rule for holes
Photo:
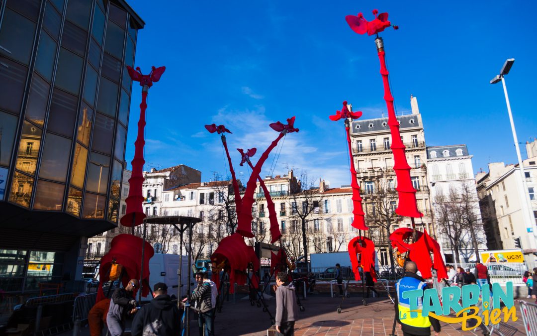
[[[143,131],[146,127],[146,109],[147,109],[147,91],[142,91],[142,103],[140,104],[140,119],[138,120],[138,134],[134,142],[134,159],[131,161],[133,166],[132,174],[129,178],[129,196],[125,199],[127,210],[125,216],[121,217],[120,223],[123,226],[137,226],[143,223],[146,214],[143,212],[142,202],[142,184],[143,184],[143,165],[146,160],[143,159],[143,146],[146,140],[143,139]]]

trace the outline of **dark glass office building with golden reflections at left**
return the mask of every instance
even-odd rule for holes
[[[2,290],[76,280],[117,226],[143,25],[123,0],[0,0]]]

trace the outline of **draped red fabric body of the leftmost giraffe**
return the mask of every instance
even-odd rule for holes
[[[142,262],[142,238],[131,234],[119,234],[112,239],[110,243],[110,252],[108,252],[100,262],[99,278],[103,284],[110,280],[110,267],[112,260],[123,266],[127,276],[121,278],[121,283],[124,287],[127,286],[130,279],[140,280],[141,262]],[[144,241],[145,251],[143,256],[143,274],[142,274],[142,296],[147,296],[149,293],[149,259],[153,257],[155,251],[149,242]],[[104,299],[102,285],[97,291],[97,302]]]

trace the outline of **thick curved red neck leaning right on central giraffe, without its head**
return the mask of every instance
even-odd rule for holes
[[[261,167],[263,166],[263,163],[265,163],[266,159],[269,158],[269,153],[278,145],[278,141],[280,141],[284,135],[284,132],[278,134],[278,138],[272,141],[272,144],[269,146],[269,148],[267,148],[263,155],[261,155],[261,158],[259,158],[259,161],[257,161],[256,166],[253,167],[252,174],[250,175],[248,183],[246,184],[246,191],[244,192],[244,196],[242,198],[242,210],[240,213],[237,212],[237,232],[242,234],[244,237],[253,238],[252,205],[255,202],[255,199],[253,199],[253,193],[257,188],[256,181],[261,173]]]

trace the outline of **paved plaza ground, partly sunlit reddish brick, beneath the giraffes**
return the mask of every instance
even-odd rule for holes
[[[271,326],[269,314],[262,308],[251,306],[247,299],[240,299],[237,295],[236,303],[230,298],[225,302],[222,312],[216,316],[215,334],[217,336],[236,335],[266,335],[267,328]],[[353,294],[346,298],[342,305],[342,312],[337,313],[341,298],[331,298],[326,294],[308,296],[302,304],[306,311],[300,312],[300,320],[295,325],[295,335],[341,336],[341,335],[389,335],[394,320],[394,306],[386,295],[380,298],[368,298],[368,305],[362,304],[362,297]],[[275,301],[267,300],[269,311],[274,316]],[[517,322],[502,323],[500,331],[505,336],[525,335],[519,306],[517,304]],[[440,335],[482,335],[483,330],[476,328],[473,331],[462,331],[460,324],[442,323]],[[396,334],[402,335],[398,325]],[[64,333],[65,336],[72,332]],[[88,327],[83,327],[79,336],[88,336]],[[197,320],[191,321],[191,335],[198,335]]]

